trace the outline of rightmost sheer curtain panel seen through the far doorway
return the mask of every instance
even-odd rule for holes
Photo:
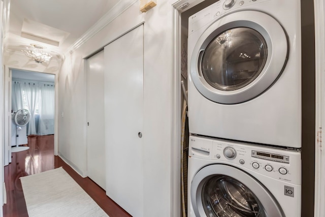
[[[54,85],[40,86],[41,103],[39,107],[39,135],[54,134]]]

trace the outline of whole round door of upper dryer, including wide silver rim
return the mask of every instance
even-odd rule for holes
[[[284,30],[274,18],[257,11],[235,12],[201,35],[190,59],[190,75],[207,99],[242,103],[276,81],[287,53]]]

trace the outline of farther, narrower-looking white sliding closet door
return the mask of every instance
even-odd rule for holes
[[[105,181],[104,50],[87,59],[87,175],[103,189]]]

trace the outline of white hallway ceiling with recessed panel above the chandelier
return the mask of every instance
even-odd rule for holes
[[[5,48],[21,51],[38,44],[59,57],[119,1],[11,0]]]

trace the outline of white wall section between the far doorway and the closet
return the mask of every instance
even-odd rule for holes
[[[58,155],[86,174],[86,74],[80,53],[68,56],[59,74]]]

